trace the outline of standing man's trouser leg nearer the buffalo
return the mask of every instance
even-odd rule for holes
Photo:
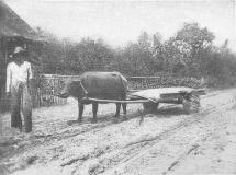
[[[25,132],[32,131],[32,98],[27,85],[22,86],[22,114],[24,116]]]

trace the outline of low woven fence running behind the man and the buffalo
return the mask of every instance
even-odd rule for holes
[[[40,82],[34,82],[32,88],[33,107],[63,105],[67,101],[55,94],[61,89],[66,80],[77,80],[79,75],[43,74]],[[159,77],[127,77],[128,89],[150,89],[162,86],[190,86],[200,88],[202,80],[194,78],[175,78],[171,75]],[[4,95],[1,100],[1,112],[10,110],[10,101]]]

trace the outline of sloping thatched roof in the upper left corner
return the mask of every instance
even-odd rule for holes
[[[26,39],[37,40],[34,30],[0,0],[0,37],[2,36],[21,36]]]

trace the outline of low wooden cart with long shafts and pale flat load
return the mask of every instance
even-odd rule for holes
[[[147,90],[133,90],[127,95],[126,101],[100,100],[87,97],[83,101],[93,101],[99,103],[142,103],[145,113],[155,113],[160,103],[182,104],[187,114],[196,113],[200,108],[200,95],[204,95],[202,89],[191,88],[160,88]]]

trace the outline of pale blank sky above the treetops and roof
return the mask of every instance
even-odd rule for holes
[[[80,40],[103,38],[113,47],[135,42],[141,32],[159,33],[164,40],[184,22],[196,22],[216,36],[215,45],[228,39],[236,51],[235,0],[4,0],[32,27]]]

